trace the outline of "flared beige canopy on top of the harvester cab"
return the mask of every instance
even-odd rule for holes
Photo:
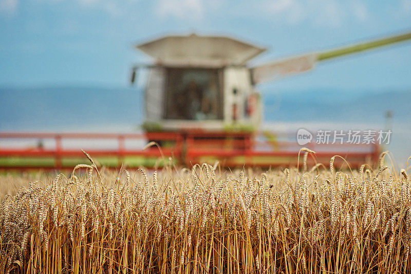
[[[244,65],[266,48],[228,36],[170,35],[136,45],[165,66],[221,67]]]

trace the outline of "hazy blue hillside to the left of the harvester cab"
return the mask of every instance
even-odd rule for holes
[[[0,88],[0,130],[138,124],[140,93],[132,88]]]

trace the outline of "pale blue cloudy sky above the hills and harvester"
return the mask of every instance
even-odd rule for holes
[[[378,5],[376,4],[378,3]],[[411,0],[0,0],[1,86],[126,86],[165,33],[219,33],[266,46],[255,62],[411,29]],[[322,63],[265,90],[411,90],[411,43]]]

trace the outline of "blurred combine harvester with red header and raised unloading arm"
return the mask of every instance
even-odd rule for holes
[[[228,36],[163,36],[136,46],[155,60],[132,68],[132,83],[138,69],[148,70],[142,133],[0,132],[0,168],[71,169],[84,161],[80,148],[109,168],[151,168],[169,159],[186,166],[216,160],[224,167],[296,165],[297,152],[302,148],[296,133],[258,131],[262,103],[255,86],[308,71],[320,61],[410,39],[411,32],[402,33],[249,66],[247,62],[265,48]],[[18,147],[17,141],[23,144]],[[29,141],[39,145],[28,149],[25,144]],[[161,150],[155,146],[143,150],[150,141],[157,142]],[[99,142],[102,144],[96,147]],[[86,143],[92,144],[90,148]],[[315,161],[325,165],[330,157],[340,155],[351,167],[358,167],[376,161],[380,154],[379,145],[374,143],[311,141],[304,146],[314,150]],[[311,157],[308,160],[314,162]]]

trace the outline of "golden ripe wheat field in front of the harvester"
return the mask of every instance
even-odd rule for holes
[[[3,176],[0,272],[409,272],[406,170],[387,152],[359,170],[307,167],[301,152],[301,167],[265,172],[114,173],[85,153],[69,176]]]

